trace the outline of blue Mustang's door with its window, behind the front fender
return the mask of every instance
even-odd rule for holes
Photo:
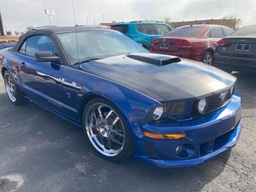
[[[36,35],[26,39],[20,48],[19,78],[26,95],[50,108],[61,107],[61,63],[35,61],[38,51],[51,51],[58,55],[56,46],[49,36]]]

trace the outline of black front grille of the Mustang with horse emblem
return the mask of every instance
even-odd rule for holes
[[[210,113],[216,109],[220,109],[222,106],[224,106],[228,102],[228,100],[231,99],[231,96],[232,96],[232,93],[230,92],[230,90],[225,90],[223,92],[215,93],[214,95],[205,97],[207,100],[207,106],[204,113],[199,113],[198,111],[199,100],[196,100],[193,107],[192,116],[204,115],[205,113]]]

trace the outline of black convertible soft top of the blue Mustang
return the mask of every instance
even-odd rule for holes
[[[32,29],[31,31],[28,31],[24,35],[21,35],[19,38],[19,41],[17,44],[12,48],[13,51],[19,51],[19,47],[21,44],[23,44],[24,40],[28,38],[28,36],[33,35],[46,35],[51,36],[52,34],[58,34],[58,33],[68,33],[68,32],[74,32],[74,31],[103,31],[103,30],[109,30],[104,28],[97,28],[96,26],[63,26],[63,27],[56,27],[56,26],[48,26],[48,27],[42,27],[42,28],[36,28]]]

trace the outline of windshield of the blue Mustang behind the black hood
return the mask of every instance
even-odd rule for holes
[[[115,31],[79,31],[77,37],[75,32],[61,33],[57,36],[72,64],[93,58],[106,58],[131,52],[148,52],[129,37]]]

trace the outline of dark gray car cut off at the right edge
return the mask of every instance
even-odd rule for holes
[[[246,26],[217,43],[214,67],[256,72],[256,26]]]

